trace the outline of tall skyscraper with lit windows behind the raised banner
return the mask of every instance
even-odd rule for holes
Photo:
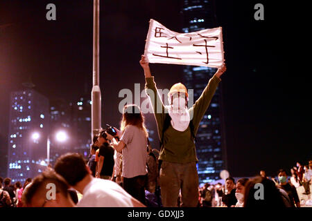
[[[184,0],[182,3],[182,32],[195,32],[207,28],[216,28],[214,1]],[[194,102],[200,97],[216,68],[204,66],[184,66],[183,83],[193,89]],[[220,171],[227,169],[225,128],[221,85],[211,100],[196,138],[198,156],[198,175],[200,183],[220,179]]]

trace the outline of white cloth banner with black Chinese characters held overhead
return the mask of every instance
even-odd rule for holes
[[[219,68],[224,61],[222,28],[178,33],[150,19],[144,55],[150,63]]]

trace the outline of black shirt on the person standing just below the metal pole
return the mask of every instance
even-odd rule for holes
[[[110,175],[114,169],[114,148],[110,144],[104,143],[100,147],[98,157],[103,156],[104,162],[100,175]]]

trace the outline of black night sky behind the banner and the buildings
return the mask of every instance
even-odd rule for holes
[[[69,102],[91,93],[93,1],[0,1],[0,146],[7,148],[9,95],[31,77],[35,90]],[[277,175],[312,159],[307,6],[272,1],[216,3],[227,71],[222,76],[228,170]],[[46,20],[55,3],[56,21]],[[149,19],[181,32],[182,1],[101,1],[103,123],[119,125],[119,90],[141,84]],[[254,20],[263,3],[264,21]],[[306,54],[305,54],[306,53]],[[159,88],[182,81],[182,66],[150,64]],[[207,79],[208,81],[208,79]],[[87,86],[87,87],[86,87]],[[153,115],[147,120],[155,122]],[[2,151],[3,153],[3,151]],[[3,156],[2,156],[3,157]],[[6,170],[6,168],[5,168]]]

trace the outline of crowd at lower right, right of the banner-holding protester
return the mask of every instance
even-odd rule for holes
[[[289,174],[289,175],[288,175]],[[265,171],[252,178],[241,178],[235,182],[234,178],[227,177],[225,184],[205,184],[198,188],[199,207],[252,207],[252,206],[279,206],[300,207],[312,206],[311,180],[312,160],[302,166],[296,166],[286,171],[279,169],[275,176],[268,177]],[[263,199],[254,197],[256,184],[263,184]]]

